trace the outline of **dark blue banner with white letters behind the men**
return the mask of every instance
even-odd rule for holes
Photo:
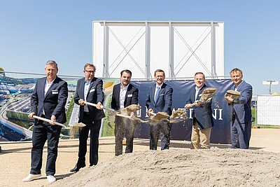
[[[141,119],[147,118],[146,116],[146,97],[148,94],[148,87],[155,84],[155,81],[134,81],[132,85],[139,89],[139,104],[141,105]],[[184,109],[186,99],[190,94],[190,89],[194,86],[194,81],[165,81],[167,85],[173,88],[173,104],[172,111]],[[225,102],[224,96],[227,90],[232,87],[230,79],[211,79],[205,81],[211,88],[216,88],[216,93],[212,98],[212,111],[214,118],[214,127],[211,132],[211,143],[214,144],[231,144],[230,141],[230,116],[232,112],[231,106]],[[187,115],[190,117],[190,111],[187,110]],[[172,125],[172,139],[190,141],[192,131],[192,124],[190,120],[181,123],[174,123]],[[137,138],[149,138],[150,128],[148,123],[141,123],[137,125],[137,130],[134,134]]]

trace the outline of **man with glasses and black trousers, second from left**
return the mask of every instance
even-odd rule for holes
[[[85,154],[87,153],[87,138],[90,130],[90,166],[97,165],[98,162],[98,147],[99,147],[99,130],[102,123],[102,118],[105,117],[104,111],[101,108],[104,102],[103,81],[95,78],[95,67],[93,64],[85,64],[83,73],[84,78],[80,78],[77,82],[76,95],[74,101],[80,105],[78,123],[84,123],[79,132],[79,151],[78,162],[70,172],[78,172],[82,167],[85,167]],[[90,102],[97,106],[85,104]]]

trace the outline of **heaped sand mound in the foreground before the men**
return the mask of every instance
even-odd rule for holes
[[[280,186],[280,153],[212,147],[137,151],[50,186]]]

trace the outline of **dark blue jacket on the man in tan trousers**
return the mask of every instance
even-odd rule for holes
[[[200,97],[202,97],[202,92],[205,88],[208,88],[208,86],[206,84],[202,85],[202,88],[197,94],[197,98],[195,98],[195,86],[191,88],[186,104],[193,104],[196,100],[200,100]],[[193,118],[195,115],[197,125],[202,129],[207,129],[214,126],[211,105],[212,99],[208,102],[201,102],[200,106],[193,106]],[[191,119],[192,123],[193,118]]]

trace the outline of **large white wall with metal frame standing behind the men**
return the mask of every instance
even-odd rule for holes
[[[92,64],[96,76],[119,78],[130,69],[132,78],[151,80],[155,69],[170,79],[193,78],[202,71],[224,76],[223,22],[92,22]]]

